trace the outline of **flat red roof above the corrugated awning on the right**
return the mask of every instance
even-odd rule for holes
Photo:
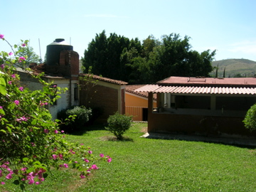
[[[202,87],[256,87],[256,78],[166,78],[156,82],[158,85],[183,85]]]

